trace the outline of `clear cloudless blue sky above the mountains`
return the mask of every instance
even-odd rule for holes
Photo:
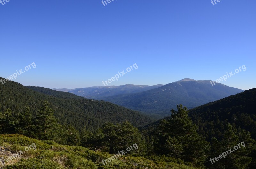
[[[10,0],[0,4],[0,77],[47,88],[167,84],[183,78],[256,87],[256,1]]]

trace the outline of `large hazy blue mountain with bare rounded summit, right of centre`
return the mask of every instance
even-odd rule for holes
[[[144,92],[109,96],[102,100],[162,118],[170,115],[170,110],[176,109],[178,104],[194,108],[243,91],[215,84],[212,86],[210,80],[186,78]]]

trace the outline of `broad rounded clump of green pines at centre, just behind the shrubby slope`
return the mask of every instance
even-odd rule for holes
[[[137,148],[133,148],[129,154],[145,154],[145,142],[139,130],[127,121],[116,125],[106,123],[102,129],[98,129],[94,134],[84,131],[81,137],[84,139],[82,139],[82,145],[91,147],[93,150],[105,150],[113,154],[122,150],[126,151],[126,148],[134,145]]]

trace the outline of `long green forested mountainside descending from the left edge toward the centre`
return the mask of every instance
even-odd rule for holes
[[[0,79],[3,78],[0,77]],[[51,103],[51,108],[55,110],[54,115],[60,124],[70,124],[79,130],[86,127],[90,131],[95,131],[106,122],[120,123],[127,120],[136,127],[152,122],[150,117],[137,111],[48,88],[31,86],[26,88],[9,81],[0,85],[0,91],[0,112],[11,108],[15,114],[24,111],[26,106],[29,106],[35,117],[43,101],[47,100]]]

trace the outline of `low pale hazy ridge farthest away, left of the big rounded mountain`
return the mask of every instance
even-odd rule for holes
[[[147,85],[127,84],[122,86],[100,86],[100,87],[94,86],[89,88],[77,88],[77,89],[63,88],[63,89],[53,89],[53,90],[70,92],[85,98],[101,99],[103,97],[114,96],[119,94],[143,92],[143,91],[158,88],[161,86],[163,85],[158,84],[154,86],[147,86]]]

